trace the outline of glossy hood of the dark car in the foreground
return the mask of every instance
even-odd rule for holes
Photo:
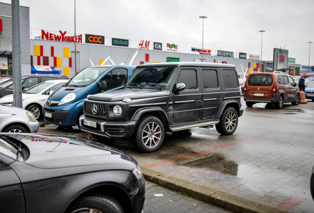
[[[110,146],[82,139],[41,134],[1,133],[24,143],[30,152],[24,163],[41,169],[110,165],[135,168],[137,162]]]

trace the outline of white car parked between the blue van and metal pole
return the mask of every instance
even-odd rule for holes
[[[48,80],[29,88],[22,94],[23,108],[32,112],[37,120],[42,119],[42,106],[48,96],[68,81],[69,80]],[[0,98],[0,103],[12,105],[13,94]]]

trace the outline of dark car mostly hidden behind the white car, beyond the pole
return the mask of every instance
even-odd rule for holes
[[[36,84],[47,80],[56,80],[56,79],[68,79],[65,75],[58,74],[29,74],[22,75],[22,89],[28,89]],[[13,94],[13,80],[12,78],[8,81],[0,83],[0,98],[6,95]]]

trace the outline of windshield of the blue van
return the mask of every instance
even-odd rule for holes
[[[109,67],[86,68],[75,75],[67,85],[70,87],[85,87],[94,82]]]

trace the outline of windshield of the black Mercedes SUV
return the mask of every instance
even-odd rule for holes
[[[140,67],[133,72],[128,87],[166,88],[169,87],[175,67]]]

